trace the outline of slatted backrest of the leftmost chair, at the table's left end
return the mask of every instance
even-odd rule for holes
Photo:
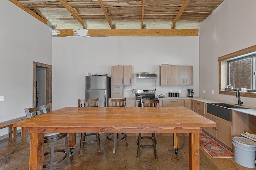
[[[42,115],[44,113],[48,113],[52,111],[52,104],[46,104],[43,106],[37,106],[37,107],[32,107],[32,108],[26,108],[26,116],[27,118],[35,117],[37,115]]]

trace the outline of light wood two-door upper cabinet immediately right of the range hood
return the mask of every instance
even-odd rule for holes
[[[177,66],[160,66],[160,86],[177,86]]]

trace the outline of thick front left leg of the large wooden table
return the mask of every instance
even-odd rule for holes
[[[29,169],[42,170],[44,158],[44,133],[30,134]]]

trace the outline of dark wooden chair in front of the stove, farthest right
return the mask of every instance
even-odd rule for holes
[[[159,100],[146,100],[146,99],[140,99],[140,107],[158,107]],[[142,145],[141,140],[142,139],[151,139],[152,140],[152,145]],[[140,156],[140,147],[142,148],[154,148],[154,156],[156,159],[157,154],[156,154],[156,134],[152,133],[152,136],[141,136],[141,133],[139,133],[138,139],[137,139],[137,145],[138,145],[138,150],[137,150],[137,159]]]

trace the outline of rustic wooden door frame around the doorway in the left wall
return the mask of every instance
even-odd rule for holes
[[[52,103],[52,66],[33,62],[33,107],[36,107],[36,66],[46,68],[46,104]]]

